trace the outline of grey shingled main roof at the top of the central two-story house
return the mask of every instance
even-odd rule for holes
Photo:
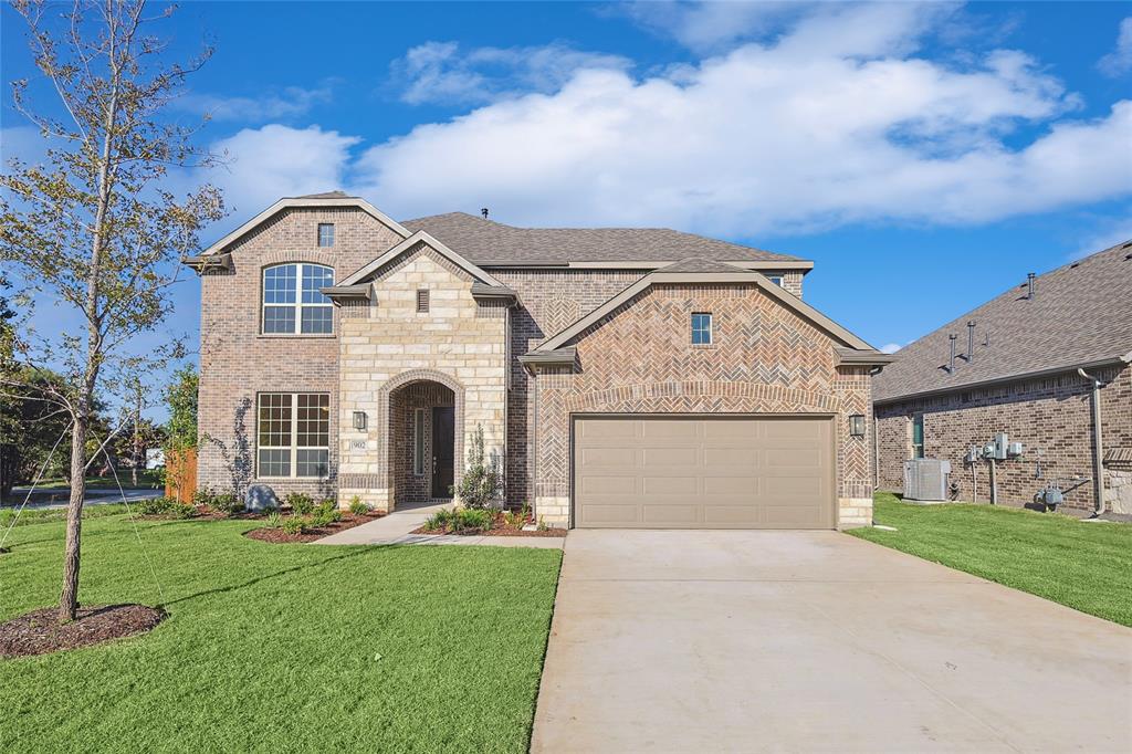
[[[664,228],[514,228],[463,212],[406,220],[484,267],[627,265],[651,269],[694,257],[807,271],[813,263]],[[771,264],[769,264],[771,263]]]

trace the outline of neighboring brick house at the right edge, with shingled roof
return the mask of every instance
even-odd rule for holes
[[[894,355],[873,392],[880,488],[902,491],[906,459],[946,459],[953,497],[987,502],[989,462],[964,456],[1004,431],[1024,453],[996,464],[997,502],[1058,483],[1066,506],[1096,511],[1099,477],[1104,507],[1132,513],[1132,241],[1028,279]]]

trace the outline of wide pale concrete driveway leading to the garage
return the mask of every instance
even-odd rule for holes
[[[1132,631],[837,532],[573,531],[534,752],[1127,752]]]

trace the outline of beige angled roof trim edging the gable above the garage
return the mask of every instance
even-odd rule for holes
[[[674,265],[675,266],[675,265]],[[550,351],[556,351],[567,345],[573,339],[577,337],[586,331],[591,325],[600,322],[606,316],[614,312],[619,306],[626,303],[627,301],[635,298],[637,294],[642,293],[645,289],[664,283],[754,283],[764,293],[771,298],[779,301],[779,303],[791,309],[795,314],[804,319],[809,320],[820,329],[825,331],[834,337],[834,340],[840,341],[843,345],[849,346],[854,351],[864,351],[869,355],[875,354],[875,360],[873,363],[887,363],[889,359],[884,354],[880,353],[872,345],[857,337],[848,329],[837,324],[821,311],[809,306],[798,297],[792,293],[788,293],[780,286],[770,282],[757,272],[753,271],[740,271],[730,269],[723,272],[669,272],[668,268],[660,269],[654,273],[650,273],[629,285],[624,291],[609,299],[600,307],[591,311],[590,314],[577,319],[573,324],[566,326],[564,329],[555,335],[551,335],[546,341],[540,343],[538,346],[531,350],[531,353],[547,353]],[[860,361],[858,363],[864,363]]]

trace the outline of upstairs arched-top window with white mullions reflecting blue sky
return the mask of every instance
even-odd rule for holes
[[[331,300],[318,289],[334,285],[334,269],[308,263],[264,267],[264,333],[333,332]]]

